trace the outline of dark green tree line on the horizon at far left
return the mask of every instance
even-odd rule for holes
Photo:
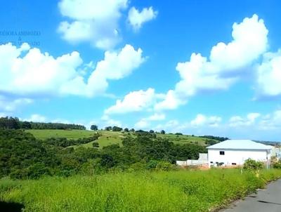
[[[86,130],[86,127],[79,124],[44,123],[32,121],[20,121],[17,117],[1,117],[0,128],[6,129],[76,129]]]

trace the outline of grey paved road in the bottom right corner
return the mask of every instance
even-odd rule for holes
[[[227,209],[230,212],[280,212],[281,211],[281,180],[270,183],[265,190],[251,194],[244,200],[236,201]]]

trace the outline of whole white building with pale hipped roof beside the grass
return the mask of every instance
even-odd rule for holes
[[[236,166],[247,159],[270,161],[272,148],[252,140],[225,140],[211,145],[208,149],[209,166]]]

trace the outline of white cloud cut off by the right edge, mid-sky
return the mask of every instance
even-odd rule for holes
[[[281,49],[277,53],[266,53],[257,67],[258,97],[279,97],[281,95]]]

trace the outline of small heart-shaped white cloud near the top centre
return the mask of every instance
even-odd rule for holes
[[[129,10],[128,21],[134,30],[141,29],[145,22],[153,20],[157,17],[158,12],[153,11],[152,6],[150,8],[143,8],[140,12],[135,7]]]

